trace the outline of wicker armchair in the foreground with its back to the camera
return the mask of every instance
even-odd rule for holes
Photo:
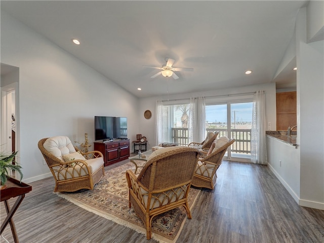
[[[184,206],[188,218],[191,213],[187,201],[199,151],[188,147],[169,147],[153,152],[138,177],[126,171],[129,187],[129,206],[146,226],[146,237],[152,237],[154,216]]]

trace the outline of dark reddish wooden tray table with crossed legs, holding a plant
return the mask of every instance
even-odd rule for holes
[[[7,217],[1,225],[1,234],[3,233],[6,226],[9,223],[15,243],[19,243],[16,226],[14,224],[12,217],[14,216],[20,203],[24,199],[25,194],[31,191],[31,186],[29,186],[25,183],[20,183],[20,181],[13,179],[11,177],[8,179],[6,185],[7,185],[7,187],[0,191],[1,201],[4,201],[6,211],[7,211]],[[12,209],[10,209],[8,200],[12,197],[18,197],[18,198],[17,198],[14,206],[12,207]]]

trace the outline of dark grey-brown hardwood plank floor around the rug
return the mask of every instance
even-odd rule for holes
[[[267,166],[223,161],[217,174],[177,242],[324,242],[324,211],[299,206]],[[30,185],[14,216],[21,243],[155,242],[56,196],[53,178]],[[3,235],[13,242],[9,226]]]

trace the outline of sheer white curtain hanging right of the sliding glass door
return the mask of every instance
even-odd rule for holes
[[[267,164],[266,150],[265,97],[262,90],[253,95],[253,113],[251,128],[251,161]]]

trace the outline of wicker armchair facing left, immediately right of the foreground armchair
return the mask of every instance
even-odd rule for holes
[[[232,138],[228,143],[218,149],[213,150],[213,152],[210,154],[201,151],[201,153],[205,154],[206,157],[199,158],[199,161],[197,162],[191,183],[192,186],[214,189],[217,179],[216,170],[221,165],[227,148],[234,142],[235,139]]]

